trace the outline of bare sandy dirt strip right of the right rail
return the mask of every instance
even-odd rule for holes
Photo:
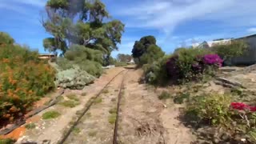
[[[178,107],[167,107],[153,90],[139,84],[140,70],[130,70],[122,97],[118,139],[122,143],[187,144],[195,138],[177,119]]]

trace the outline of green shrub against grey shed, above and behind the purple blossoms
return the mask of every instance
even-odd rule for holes
[[[241,56],[248,51],[248,44],[241,40],[232,41],[229,45],[217,45],[211,49],[224,60]]]

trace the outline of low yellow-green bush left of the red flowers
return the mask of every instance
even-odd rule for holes
[[[230,121],[230,95],[208,94],[196,96],[187,104],[186,113],[197,117],[198,122],[225,125]]]

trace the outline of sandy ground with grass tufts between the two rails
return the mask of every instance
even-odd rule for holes
[[[70,137],[65,142],[66,144],[113,143],[118,92],[126,71],[114,78],[114,81],[110,82],[110,85],[103,90],[103,93],[96,99],[94,105],[90,107],[90,110],[70,134]]]

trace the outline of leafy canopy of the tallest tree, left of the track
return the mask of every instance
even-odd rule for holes
[[[52,35],[43,41],[46,50],[65,54],[74,44],[107,55],[118,50],[124,24],[110,19],[100,0],[48,0],[46,14],[42,25]]]

